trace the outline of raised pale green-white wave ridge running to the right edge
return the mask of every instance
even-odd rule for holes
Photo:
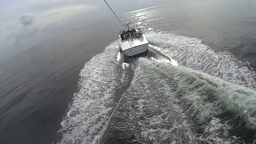
[[[237,111],[237,115],[241,115],[248,120],[247,126],[256,126],[256,91],[237,84],[228,83],[220,78],[212,77],[208,74],[185,68],[191,74],[195,74],[214,89],[214,95],[225,103],[227,109]],[[252,124],[252,125],[251,125]]]

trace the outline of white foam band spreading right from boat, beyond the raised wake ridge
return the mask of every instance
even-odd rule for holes
[[[155,49],[183,65],[224,81],[256,90],[256,74],[247,62],[237,60],[230,52],[214,52],[198,38],[173,34],[147,34]]]

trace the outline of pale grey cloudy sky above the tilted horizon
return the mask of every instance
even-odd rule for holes
[[[173,1],[107,0],[118,15]],[[107,17],[113,14],[103,0],[0,0],[0,62],[73,28]]]

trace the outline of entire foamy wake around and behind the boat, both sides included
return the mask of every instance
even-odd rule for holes
[[[247,63],[196,38],[147,37],[145,57],[127,59],[115,42],[85,63],[59,143],[256,142]]]

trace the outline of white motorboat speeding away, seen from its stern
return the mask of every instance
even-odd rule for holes
[[[129,28],[130,23],[126,23],[125,26]],[[145,35],[139,35],[137,31],[134,36],[127,36],[126,38],[121,38],[121,35],[118,36],[118,42],[121,50],[127,56],[132,56],[146,52],[148,50],[148,41]]]

